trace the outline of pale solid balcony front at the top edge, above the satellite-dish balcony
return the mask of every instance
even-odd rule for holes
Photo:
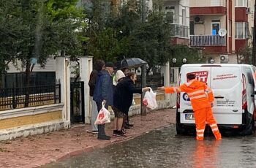
[[[193,1],[190,7],[226,7],[226,0]]]

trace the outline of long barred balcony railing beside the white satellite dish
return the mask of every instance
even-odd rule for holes
[[[190,45],[192,47],[201,46],[225,46],[226,38],[220,37],[219,35],[200,35],[192,36],[190,35]]]

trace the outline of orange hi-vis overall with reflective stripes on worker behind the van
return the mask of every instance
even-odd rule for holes
[[[186,92],[189,96],[193,111],[195,112],[197,140],[203,140],[206,122],[211,126],[216,140],[222,140],[222,135],[219,133],[217,122],[211,110],[211,102],[214,101],[214,94],[211,88],[208,88],[206,83],[198,80],[190,80],[189,83],[184,83],[180,87],[165,88],[165,93],[174,92]]]

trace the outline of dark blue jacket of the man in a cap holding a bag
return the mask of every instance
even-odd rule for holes
[[[107,70],[99,72],[94,90],[94,101],[101,103],[103,100],[106,100],[108,105],[113,105],[112,77]]]

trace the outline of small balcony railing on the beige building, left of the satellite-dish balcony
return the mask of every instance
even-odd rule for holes
[[[170,24],[172,37],[189,37],[189,27],[178,24]]]

